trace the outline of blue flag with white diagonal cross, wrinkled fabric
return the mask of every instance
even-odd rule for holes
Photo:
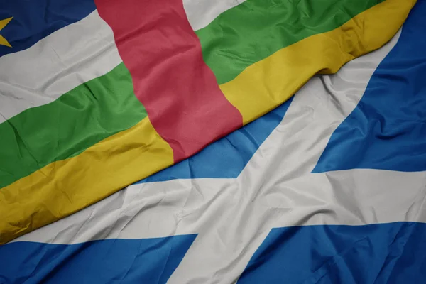
[[[0,246],[0,279],[422,283],[425,13],[191,158]]]

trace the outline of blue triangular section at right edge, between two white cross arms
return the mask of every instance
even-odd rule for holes
[[[314,173],[426,170],[426,1],[417,1],[391,53],[333,133]]]

